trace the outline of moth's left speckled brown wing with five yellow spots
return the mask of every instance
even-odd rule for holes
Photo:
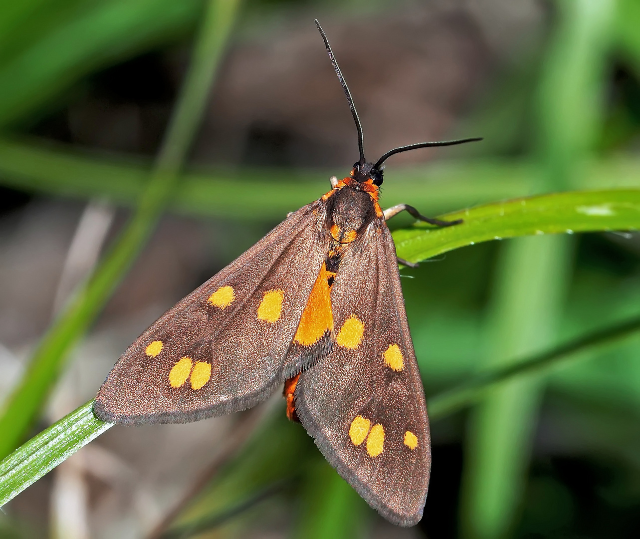
[[[292,213],[163,314],[109,373],[97,416],[143,424],[236,412],[307,367],[287,350],[328,250],[324,208]]]

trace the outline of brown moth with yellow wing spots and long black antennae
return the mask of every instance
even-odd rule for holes
[[[429,421],[404,310],[396,247],[382,211],[383,163],[364,156],[347,177],[295,211],[226,268],[168,310],[120,357],[93,405],[102,421],[179,423],[230,414],[284,384],[287,416],[326,460],[399,526],[422,518],[429,485]]]

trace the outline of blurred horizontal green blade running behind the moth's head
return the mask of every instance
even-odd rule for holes
[[[640,159],[618,156],[579,167],[580,188],[637,187]],[[137,204],[150,167],[132,159],[99,159],[65,146],[0,139],[0,184],[31,193],[104,198]],[[197,216],[278,219],[318,198],[328,177],[340,171],[273,168],[212,169],[180,177],[169,208]],[[344,171],[346,172],[346,171]],[[476,160],[433,163],[387,171],[381,203],[409,202],[423,214],[520,197],[533,190],[539,173],[531,163]]]

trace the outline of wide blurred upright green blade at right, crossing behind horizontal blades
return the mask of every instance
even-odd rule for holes
[[[580,185],[577,165],[602,129],[616,0],[561,0],[554,6],[554,29],[532,111],[541,173],[538,192]],[[588,205],[566,210],[579,207],[590,213]],[[566,215],[566,210],[560,211]],[[502,247],[485,366],[552,345],[572,273],[571,249],[566,237],[529,237]],[[461,492],[464,537],[509,535],[524,491],[542,387],[536,378],[510,382],[472,410]]]

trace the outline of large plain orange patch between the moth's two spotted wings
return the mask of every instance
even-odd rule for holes
[[[329,277],[332,277],[332,272],[326,271],[326,264],[323,262],[293,339],[302,346],[311,346],[320,340],[326,330],[333,330],[331,296],[327,282]]]

